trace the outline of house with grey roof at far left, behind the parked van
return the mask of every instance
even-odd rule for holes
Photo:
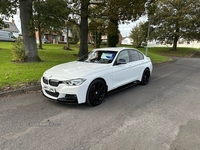
[[[15,21],[12,19],[11,22],[4,21],[7,25],[6,28],[2,28],[2,31],[8,31],[11,33],[11,36],[18,37],[19,36],[19,29],[17,28]]]

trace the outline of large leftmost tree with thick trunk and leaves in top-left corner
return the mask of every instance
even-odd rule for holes
[[[16,14],[18,5],[20,9],[26,61],[40,61],[37,53],[35,32],[30,32],[30,29],[34,28],[32,21],[32,0],[2,0],[0,5],[0,24],[2,24],[4,19]]]

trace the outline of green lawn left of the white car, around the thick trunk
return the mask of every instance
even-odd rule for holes
[[[64,45],[43,45],[38,54],[42,62],[15,63],[12,61],[12,43],[0,42],[0,88],[8,85],[38,82],[43,72],[60,63],[76,60],[78,47],[63,50]]]

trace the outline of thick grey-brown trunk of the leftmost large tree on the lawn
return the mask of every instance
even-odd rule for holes
[[[41,61],[36,46],[35,27],[33,24],[32,0],[19,0],[20,19],[27,62]]]

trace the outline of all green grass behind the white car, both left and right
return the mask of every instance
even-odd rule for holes
[[[63,44],[44,44],[43,50],[39,50],[39,57],[42,62],[16,63],[12,59],[13,43],[0,42],[0,89],[11,86],[16,87],[24,83],[39,82],[45,70],[60,63],[70,62],[77,59],[78,47],[71,45],[72,50],[63,50]],[[90,47],[90,50],[92,47]],[[140,48],[145,54],[145,48]],[[179,48],[172,51],[170,48],[149,48],[148,56],[154,64],[166,62],[168,56],[188,57],[194,48]]]

